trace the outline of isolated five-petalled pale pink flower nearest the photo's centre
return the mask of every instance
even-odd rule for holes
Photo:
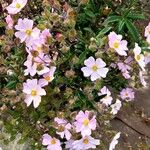
[[[82,67],[81,70],[85,77],[91,76],[91,81],[101,79],[101,77],[105,78],[108,73],[108,68],[105,68],[106,63],[101,58],[95,60],[93,57],[89,57],[84,64],[86,67]]]

